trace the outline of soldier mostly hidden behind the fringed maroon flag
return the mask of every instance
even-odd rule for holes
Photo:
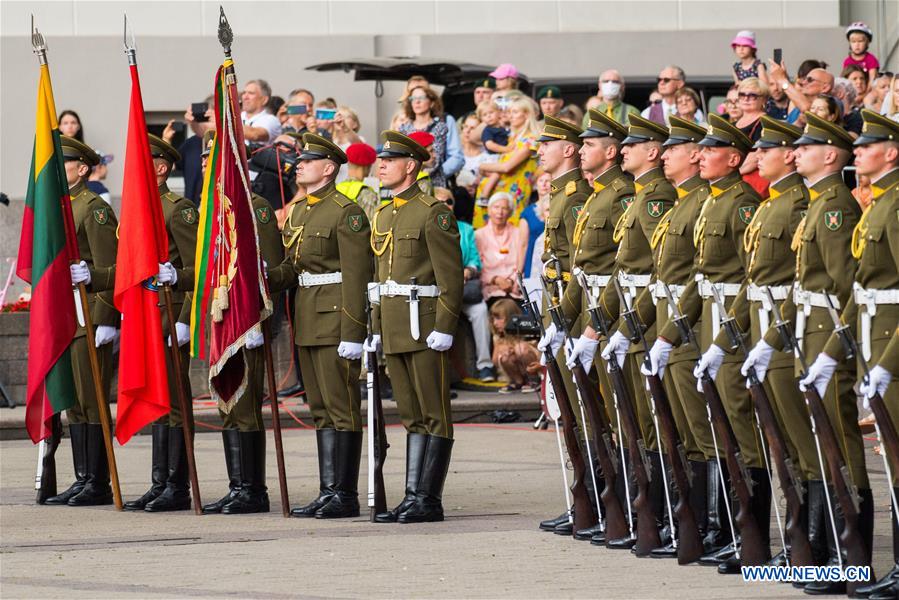
[[[203,135],[203,171],[212,149],[214,131]],[[281,232],[272,205],[259,194],[252,196],[256,216],[259,252],[268,265],[284,260]],[[269,317],[271,318],[271,317]],[[265,424],[262,421],[262,399],[265,390],[265,349],[262,336],[247,340],[247,387],[229,407],[219,406],[222,418],[222,445],[228,472],[228,493],[203,506],[203,513],[247,514],[269,511],[268,488],[265,485]],[[227,409],[227,412],[225,411]]]

